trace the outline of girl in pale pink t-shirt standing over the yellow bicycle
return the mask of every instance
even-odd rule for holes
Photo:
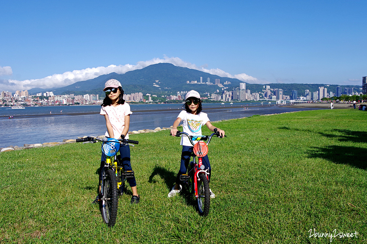
[[[130,115],[132,114],[130,110],[130,105],[123,99],[124,90],[122,90],[121,83],[118,80],[110,79],[105,83],[106,97],[103,100],[100,115],[105,116],[107,131],[105,136],[107,138],[115,139],[129,139],[129,126],[130,126]],[[120,145],[120,156],[121,156],[121,166],[124,170],[132,170],[130,164],[130,146]],[[102,153],[101,166],[99,170],[102,170],[105,165],[106,156]],[[137,191],[137,183],[135,176],[133,178],[127,179],[131,191],[131,203],[139,203],[140,196]],[[101,180],[99,180],[101,182]],[[99,199],[99,194],[101,193],[101,185],[98,187],[98,196],[96,200]],[[95,201],[97,202],[97,201]]]

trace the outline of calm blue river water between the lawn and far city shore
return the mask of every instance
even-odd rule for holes
[[[182,104],[130,104],[130,108],[133,113],[130,116],[129,131],[134,131],[170,127],[182,110]],[[104,135],[106,121],[104,116],[99,115],[100,110],[100,105],[41,106],[25,109],[2,107],[0,108],[0,147],[23,146],[25,143],[61,142],[63,139],[76,139],[78,136]],[[264,104],[203,104],[203,112],[208,114],[211,121],[302,110],[312,109],[274,106],[265,102]],[[9,116],[14,117],[9,119]]]

